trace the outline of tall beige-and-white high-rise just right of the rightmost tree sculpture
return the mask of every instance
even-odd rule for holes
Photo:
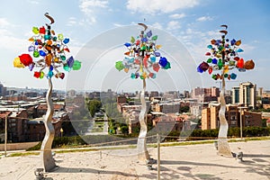
[[[256,86],[250,82],[241,83],[232,88],[232,103],[243,104],[245,107],[256,107]]]

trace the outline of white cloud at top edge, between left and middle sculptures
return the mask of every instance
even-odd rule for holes
[[[98,8],[108,8],[109,1],[104,0],[81,0],[80,10],[87,16],[86,23],[93,24],[96,22],[94,11]]]

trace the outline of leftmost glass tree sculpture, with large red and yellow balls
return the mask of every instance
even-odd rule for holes
[[[45,16],[49,18],[50,24],[54,23],[53,18],[50,17],[48,13],[46,13]],[[53,76],[60,79],[65,77],[65,73],[60,72],[58,67],[63,67],[65,71],[70,71],[71,69],[79,70],[81,67],[81,62],[75,60],[72,56],[66,58],[66,52],[69,52],[67,48],[69,39],[64,38],[61,33],[56,35],[56,33],[50,29],[50,24],[46,24],[46,27],[33,27],[32,32],[34,35],[29,39],[31,41],[31,45],[28,48],[29,54],[22,54],[14,58],[14,67],[29,67],[31,71],[35,69],[33,73],[34,77],[39,79],[47,77],[49,80],[49,89],[46,95],[48,109],[44,117],[46,134],[40,148],[42,164],[46,172],[56,167],[51,154],[51,144],[55,133],[51,123],[54,112],[51,100],[51,78]],[[37,60],[33,60],[31,57]]]

